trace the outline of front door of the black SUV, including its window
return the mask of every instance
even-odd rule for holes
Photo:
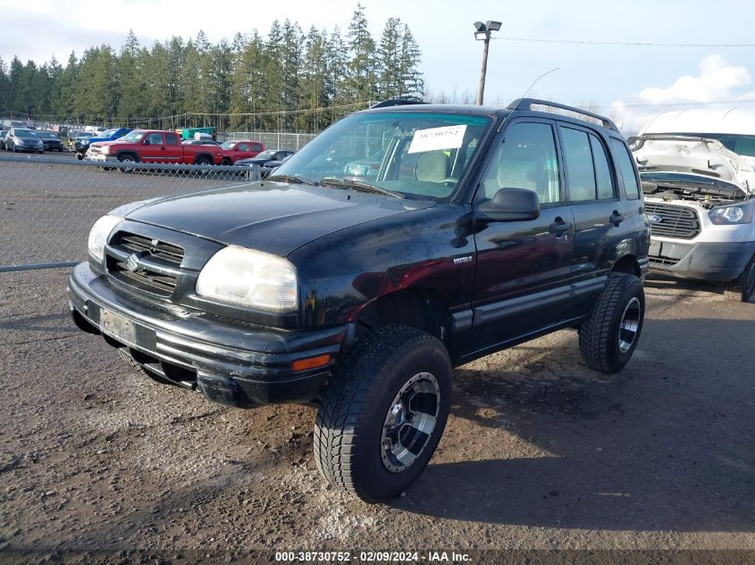
[[[470,352],[493,350],[548,327],[562,320],[566,310],[574,220],[550,120],[508,123],[477,189],[474,210],[508,188],[533,190],[540,200],[540,215],[535,220],[488,223],[475,218]]]

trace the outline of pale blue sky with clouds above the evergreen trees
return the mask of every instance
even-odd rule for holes
[[[755,108],[753,2],[361,0],[361,4],[376,40],[388,18],[407,23],[422,50],[420,69],[431,96],[444,94],[457,102],[474,103],[482,41],[475,41],[473,24],[492,20],[503,25],[491,40],[486,104],[508,105],[529,89],[529,96],[588,104],[629,132],[661,110],[686,104],[725,102]],[[94,4],[0,0],[0,56],[6,63],[16,55],[21,62],[31,59],[41,64],[55,55],[64,63],[71,51],[80,56],[88,46],[105,43],[117,50],[130,29],[143,46],[174,35],[195,37],[199,29],[215,43],[222,37],[231,39],[237,31],[247,34],[257,29],[265,36],[274,19],[287,18],[305,31],[310,26],[328,30],[339,26],[345,34],[356,7],[357,0],[287,0],[274,7],[206,0]],[[686,46],[600,45],[607,42]]]

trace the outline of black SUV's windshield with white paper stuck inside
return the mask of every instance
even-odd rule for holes
[[[275,176],[325,179],[325,185],[350,179],[398,195],[444,200],[464,177],[492,121],[457,112],[355,113],[292,155]]]

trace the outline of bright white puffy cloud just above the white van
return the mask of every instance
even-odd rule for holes
[[[669,108],[688,103],[690,106],[751,100],[755,91],[742,92],[752,84],[747,68],[733,65],[719,54],[709,54],[698,65],[700,74],[684,75],[668,87],[646,87],[637,96],[611,104],[611,115],[626,134],[636,133],[652,116]]]

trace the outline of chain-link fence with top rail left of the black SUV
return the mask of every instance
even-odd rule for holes
[[[89,228],[122,204],[259,179],[258,167],[102,164],[0,155],[0,271],[87,257]]]

